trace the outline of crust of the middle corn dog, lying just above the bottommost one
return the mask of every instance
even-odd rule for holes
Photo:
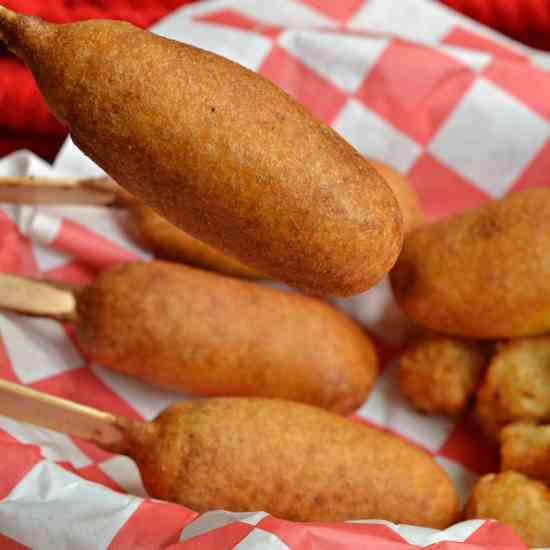
[[[262,395],[349,413],[377,374],[369,337],[314,298],[181,264],[135,262],[78,297],[93,361],[198,395]]]

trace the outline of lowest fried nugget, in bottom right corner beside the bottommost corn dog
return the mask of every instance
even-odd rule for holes
[[[483,476],[466,503],[465,515],[506,523],[529,547],[550,545],[550,490],[523,474]]]

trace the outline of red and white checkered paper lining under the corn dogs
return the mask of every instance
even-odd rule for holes
[[[405,172],[431,219],[549,183],[550,57],[429,0],[212,0],[153,30],[273,80],[362,153]],[[101,171],[68,141],[53,167],[18,152],[0,161],[0,174]],[[123,223],[124,212],[108,208],[2,205],[0,270],[84,283],[148,258]],[[419,415],[399,396],[395,357],[407,325],[387,281],[336,304],[371,329],[384,363],[357,420],[427,449],[464,497],[496,457],[464,419]],[[69,326],[5,314],[0,333],[6,379],[133,418],[182,398],[87,365]],[[199,517],[149,499],[129,459],[4,417],[0,456],[0,548],[525,548],[495,522],[440,532],[375,520],[297,524],[263,512]]]

